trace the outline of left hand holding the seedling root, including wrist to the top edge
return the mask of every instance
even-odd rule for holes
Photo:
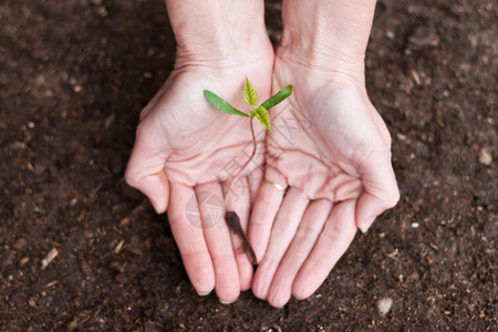
[[[230,180],[224,169],[230,160],[241,165],[247,159],[252,145],[249,122],[215,110],[203,92],[209,89],[246,110],[241,91],[248,76],[261,100],[270,96],[273,49],[264,28],[264,6],[253,0],[167,0],[166,6],[177,59],[164,86],[141,113],[125,177],[157,212],[167,210],[196,291],[207,294],[215,289],[220,301],[231,302],[250,288],[252,266],[224,220],[212,220],[206,205],[197,204],[195,211],[189,206],[189,212],[201,217],[203,227],[196,227],[186,207],[193,197],[199,203],[203,191],[222,201]],[[261,132],[262,126],[256,124],[256,129]],[[243,229],[261,180],[264,136],[257,137],[259,153],[239,181],[249,190],[237,185],[229,199]]]

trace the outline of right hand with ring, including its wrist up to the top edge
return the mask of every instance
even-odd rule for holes
[[[274,111],[248,234],[260,261],[252,291],[273,307],[310,297],[356,229],[398,200],[391,136],[365,89],[374,9],[370,0],[283,1],[273,92],[290,83],[293,94]]]

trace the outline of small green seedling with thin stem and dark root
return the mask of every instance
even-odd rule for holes
[[[215,106],[215,108],[232,114],[232,115],[239,115],[243,117],[249,117],[250,122],[250,128],[251,128],[251,135],[252,135],[252,153],[247,159],[246,164],[240,167],[240,169],[237,172],[237,174],[234,176],[228,190],[227,195],[225,195],[225,220],[227,221],[228,228],[234,232],[236,236],[238,236],[241,240],[241,247],[240,251],[246,252],[249,256],[249,259],[251,263],[256,264],[257,259],[255,251],[252,250],[251,245],[249,243],[249,240],[247,239],[246,235],[243,234],[243,229],[240,225],[240,218],[239,216],[228,208],[228,198],[234,190],[234,185],[237,183],[237,180],[240,178],[240,176],[243,174],[245,168],[249,165],[249,163],[252,160],[252,158],[256,155],[256,137],[255,137],[255,128],[252,125],[252,118],[258,118],[259,122],[269,131],[271,132],[271,125],[270,125],[270,114],[268,111],[270,111],[271,107],[278,105],[283,100],[286,100],[288,96],[290,96],[292,93],[292,86],[288,85],[287,87],[280,90],[276,95],[267,100],[264,103],[256,107],[258,104],[258,93],[256,92],[252,84],[249,82],[249,80],[246,77],[246,85],[243,89],[243,97],[246,98],[247,104],[250,107],[249,113],[243,113],[234,106],[231,106],[229,103],[224,101],[221,97],[216,95],[215,93],[205,90],[204,95],[206,96],[207,101]]]

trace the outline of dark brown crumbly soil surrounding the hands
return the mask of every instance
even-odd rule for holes
[[[175,58],[163,1],[0,0],[0,330],[496,331],[497,18],[494,0],[378,3],[367,85],[402,200],[313,297],[273,309],[199,298],[123,180]]]

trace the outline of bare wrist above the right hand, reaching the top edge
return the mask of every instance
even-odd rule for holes
[[[284,0],[279,56],[311,69],[363,76],[375,2]]]

